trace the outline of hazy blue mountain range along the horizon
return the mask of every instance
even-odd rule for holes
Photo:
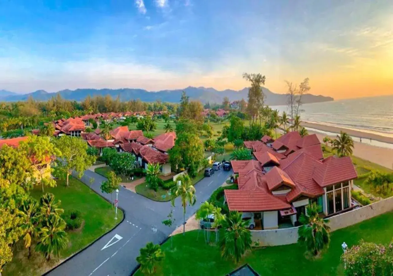
[[[245,99],[247,101],[248,88],[242,90],[215,90],[214,88],[205,87],[192,87],[189,86],[184,89],[178,90],[161,90],[161,91],[147,91],[143,89],[134,88],[122,88],[122,89],[77,89],[77,90],[61,90],[59,93],[63,99],[73,101],[83,101],[86,96],[95,95],[111,95],[112,97],[120,97],[121,101],[129,101],[132,99],[140,99],[143,102],[153,102],[161,100],[162,102],[179,102],[182,95],[182,91],[185,91],[190,99],[200,100],[201,102],[217,102],[221,103],[224,97],[228,97],[230,101],[236,101]],[[286,104],[286,95],[277,94],[263,88],[263,92],[266,96],[266,104],[268,105],[283,105]],[[45,90],[37,90],[27,94],[17,94],[7,90],[0,90],[0,101],[25,101],[28,97],[33,97],[37,101],[46,101],[51,97],[55,96],[56,93],[48,93]],[[321,95],[307,94],[303,95],[303,103],[311,102],[327,102],[333,101],[332,97],[325,97]]]

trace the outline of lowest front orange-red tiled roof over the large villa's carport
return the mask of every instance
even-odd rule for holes
[[[230,211],[257,212],[291,208],[279,197],[266,192],[245,190],[224,190]]]

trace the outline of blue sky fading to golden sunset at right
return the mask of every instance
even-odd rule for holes
[[[0,90],[393,94],[391,0],[1,0]]]

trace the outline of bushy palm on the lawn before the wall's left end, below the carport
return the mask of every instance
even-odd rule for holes
[[[251,232],[247,229],[248,221],[242,219],[239,212],[232,211],[222,221],[224,236],[220,240],[221,255],[224,258],[235,258],[239,262],[247,249],[251,249]]]

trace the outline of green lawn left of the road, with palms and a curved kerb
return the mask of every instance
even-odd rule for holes
[[[61,251],[60,258],[53,258],[49,263],[39,253],[34,253],[33,248],[32,256],[28,260],[28,250],[23,247],[23,241],[18,242],[14,249],[14,258],[4,267],[3,275],[41,275],[59,260],[83,249],[114,228],[123,219],[123,212],[118,210],[118,219],[115,221],[115,211],[110,203],[92,192],[81,181],[70,176],[69,182],[70,186],[67,188],[64,181],[58,180],[56,187],[45,188],[45,192],[53,193],[56,199],[61,200],[60,207],[65,211],[79,210],[84,219],[82,228],[68,232],[68,247]],[[31,190],[30,194],[39,200],[42,195],[40,186]]]

